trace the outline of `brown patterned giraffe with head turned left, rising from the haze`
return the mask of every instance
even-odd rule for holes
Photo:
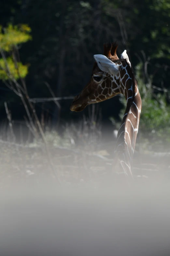
[[[71,111],[82,111],[87,105],[110,99],[117,94],[126,98],[126,110],[115,145],[115,166],[133,178],[133,155],[142,108],[137,80],[131,68],[126,50],[120,59],[116,50],[118,43],[104,44],[104,54],[94,55],[95,63],[89,83],[77,95]]]

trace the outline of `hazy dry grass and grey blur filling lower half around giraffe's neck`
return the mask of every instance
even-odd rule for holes
[[[168,148],[139,136],[129,184],[114,171],[113,134],[73,130],[45,133],[48,152],[1,138],[0,255],[170,255]]]

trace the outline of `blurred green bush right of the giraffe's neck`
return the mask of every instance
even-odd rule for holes
[[[170,136],[170,105],[166,95],[163,92],[155,94],[152,77],[149,77],[148,83],[144,83],[141,63],[136,66],[136,78],[142,98],[140,129],[145,133],[155,134],[157,138]]]

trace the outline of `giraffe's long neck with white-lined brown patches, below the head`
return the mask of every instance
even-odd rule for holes
[[[126,74],[120,79],[120,92],[124,94],[127,106],[118,131],[115,155],[124,172],[132,175],[133,155],[141,112],[141,98],[134,74],[132,73],[130,76],[127,70]]]

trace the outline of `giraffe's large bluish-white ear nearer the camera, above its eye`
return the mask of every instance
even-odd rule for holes
[[[94,59],[102,71],[111,72],[115,75],[119,72],[119,65],[109,60],[105,55],[96,54],[94,55]]]

